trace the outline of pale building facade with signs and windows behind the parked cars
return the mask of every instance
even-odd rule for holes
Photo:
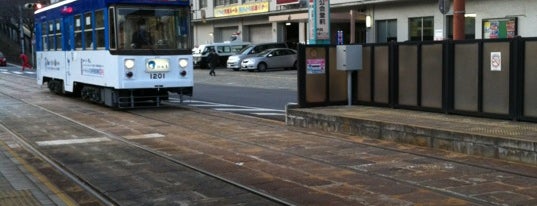
[[[319,0],[322,1],[322,0]],[[326,1],[326,0],[325,0]],[[429,41],[452,38],[452,1],[330,0],[330,42]],[[194,45],[229,40],[308,43],[309,0],[195,0]],[[537,0],[466,0],[466,39],[537,36]]]

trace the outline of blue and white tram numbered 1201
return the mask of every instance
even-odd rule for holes
[[[188,0],[64,0],[35,11],[37,82],[116,108],[192,96]]]

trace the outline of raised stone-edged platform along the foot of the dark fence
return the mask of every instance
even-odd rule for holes
[[[368,106],[298,108],[291,126],[537,164],[537,124]]]

